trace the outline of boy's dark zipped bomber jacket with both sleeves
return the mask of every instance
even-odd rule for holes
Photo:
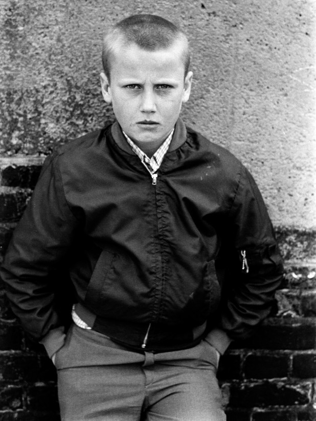
[[[62,335],[70,311],[58,291],[73,285],[94,329],[166,351],[209,331],[249,335],[270,311],[282,263],[257,185],[231,153],[178,120],[153,185],[116,122],[47,158],[1,275],[43,343]]]

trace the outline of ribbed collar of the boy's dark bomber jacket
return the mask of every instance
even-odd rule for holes
[[[120,149],[123,149],[123,151],[127,152],[130,155],[134,155],[134,153],[132,152],[129,144],[127,143],[122,133],[122,129],[118,121],[115,121],[112,124],[111,134]],[[177,122],[175,123],[174,133],[172,136],[172,140],[171,140],[168,152],[175,151],[177,148],[183,145],[186,140],[187,140],[187,129],[186,129],[185,123],[183,122],[181,118],[178,118]]]

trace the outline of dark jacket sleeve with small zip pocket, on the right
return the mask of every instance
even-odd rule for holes
[[[283,265],[262,196],[243,166],[226,224],[218,327],[230,339],[245,339],[270,313]]]

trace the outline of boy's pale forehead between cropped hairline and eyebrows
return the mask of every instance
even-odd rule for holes
[[[173,75],[184,77],[184,46],[176,41],[172,46],[148,51],[136,44],[120,43],[112,50],[111,77]]]

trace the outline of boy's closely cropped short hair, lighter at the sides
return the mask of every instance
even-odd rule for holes
[[[102,64],[110,81],[111,56],[118,45],[136,44],[147,51],[157,51],[171,47],[175,41],[183,43],[183,64],[185,76],[189,71],[190,53],[185,33],[163,17],[139,14],[126,17],[112,27],[103,39]]]

